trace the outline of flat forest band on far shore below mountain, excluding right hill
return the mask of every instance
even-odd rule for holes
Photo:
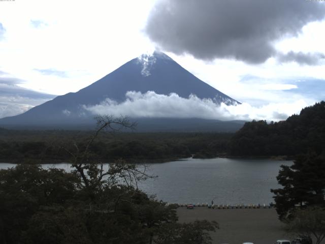
[[[79,148],[93,131],[18,131],[0,129],[0,160],[3,162],[62,161],[70,156],[64,145]],[[231,133],[104,133],[91,145],[92,152],[103,161],[119,158],[168,161],[194,155],[212,158],[225,155]]]

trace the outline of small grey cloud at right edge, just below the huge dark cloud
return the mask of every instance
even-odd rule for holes
[[[278,54],[278,60],[282,63],[297,62],[301,65],[318,65],[321,60],[325,60],[325,54],[319,52],[303,53],[290,51],[286,54]]]

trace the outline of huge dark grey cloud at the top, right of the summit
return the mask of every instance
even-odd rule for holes
[[[158,47],[196,58],[236,58],[263,63],[273,42],[296,36],[325,17],[325,5],[305,0],[162,0],[151,10],[145,32]]]

